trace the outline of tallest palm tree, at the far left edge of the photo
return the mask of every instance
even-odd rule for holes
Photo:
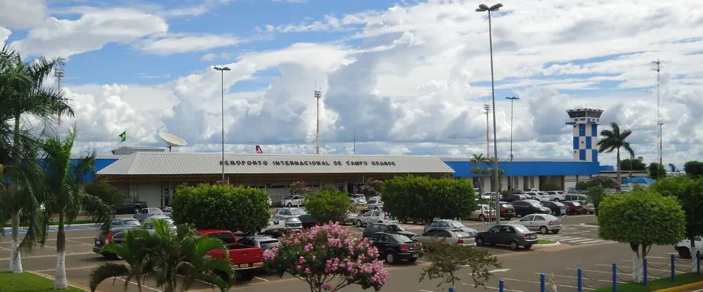
[[[39,225],[41,214],[37,200],[42,171],[34,161],[39,150],[37,135],[25,127],[22,118],[35,117],[51,124],[53,114],[63,112],[73,116],[62,91],[43,86],[46,77],[54,69],[63,67],[63,59],[37,58],[23,61],[22,56],[5,44],[0,50],[0,164],[4,164],[10,178],[8,187],[3,187],[6,200],[3,215],[11,220],[10,270],[22,272],[20,249],[29,250],[42,241]],[[21,211],[21,212],[20,212]],[[6,218],[0,218],[4,223]],[[28,226],[27,234],[19,241],[20,224]]]

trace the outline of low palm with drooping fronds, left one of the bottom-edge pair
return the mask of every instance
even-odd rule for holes
[[[110,244],[103,246],[103,251],[115,253],[127,262],[127,265],[103,263],[96,267],[89,275],[91,292],[94,292],[102,281],[112,277],[126,277],[124,279],[125,291],[131,279],[134,279],[137,288],[142,291],[141,283],[153,270],[149,260],[153,248],[157,246],[157,242],[153,238],[146,230],[128,230],[124,232],[122,243],[110,242]]]

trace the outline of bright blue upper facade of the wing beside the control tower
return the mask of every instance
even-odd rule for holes
[[[455,171],[454,177],[475,178],[479,175],[471,173],[471,169],[492,168],[487,164],[472,164],[469,161],[456,161],[457,159],[443,159],[444,163]],[[533,175],[598,175],[600,165],[591,161],[498,161],[498,168],[505,172],[505,176],[533,176]]]

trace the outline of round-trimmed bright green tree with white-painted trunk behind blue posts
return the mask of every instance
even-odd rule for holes
[[[599,213],[598,235],[630,244],[634,282],[643,279],[643,259],[652,244],[676,244],[685,237],[681,205],[675,197],[662,197],[651,189],[610,195],[600,203]]]

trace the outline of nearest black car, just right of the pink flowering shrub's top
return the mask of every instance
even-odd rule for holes
[[[403,234],[380,232],[370,234],[368,241],[378,249],[378,257],[389,264],[394,264],[398,260],[415,263],[420,255],[423,255],[422,245]]]

